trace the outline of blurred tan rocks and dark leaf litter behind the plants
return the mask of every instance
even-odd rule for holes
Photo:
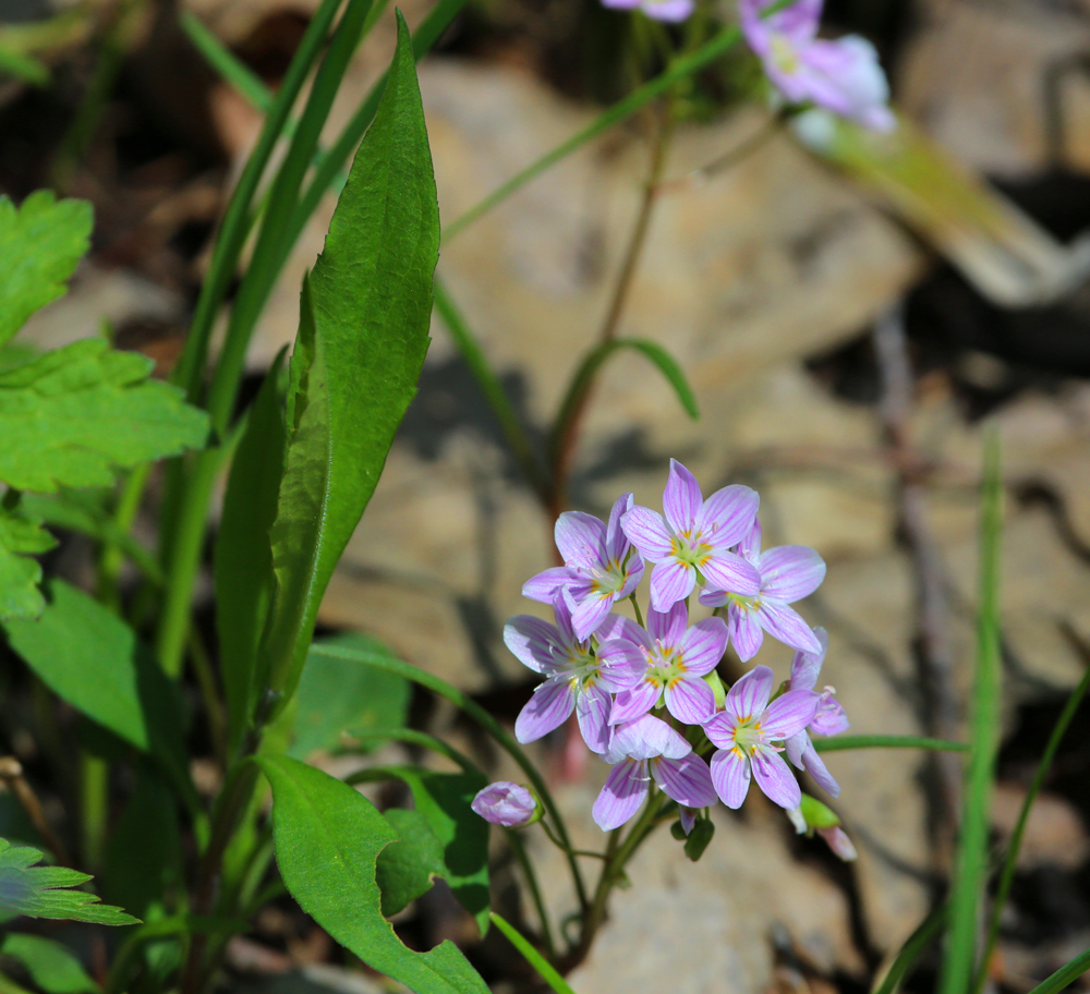
[[[401,9],[412,27],[429,0]],[[160,375],[180,353],[210,239],[261,124],[179,27],[182,10],[275,87],[312,5],[0,0],[0,193],[20,201],[50,186],[96,214],[71,292],[33,319],[25,343],[53,348],[105,329],[153,356]],[[734,16],[729,3],[722,15]],[[420,66],[445,220],[632,88],[630,20],[596,0],[471,0]],[[570,505],[602,516],[634,490],[657,506],[671,456],[705,493],[756,487],[765,545],[811,545],[828,563],[802,613],[829,630],[823,679],[852,730],[958,737],[982,437],[996,426],[1008,495],[1002,839],[1090,662],[1090,267],[1080,241],[1090,230],[1090,3],[833,0],[824,23],[875,44],[918,155],[815,153],[789,129],[770,129],[753,97],[755,63],[739,49],[697,77],[620,331],[678,359],[701,417],[690,421],[639,356],[619,356],[576,447]],[[390,11],[349,70],[331,130],[392,45]],[[603,320],[646,138],[640,118],[607,132],[444,245],[439,272],[536,439]],[[701,171],[747,143],[731,168]],[[332,203],[259,324],[247,397],[294,338],[300,280]],[[513,720],[533,683],[504,648],[502,623],[536,610],[519,592],[553,563],[552,521],[437,319],[432,335],[420,395],[322,622],[380,638]],[[142,537],[155,538],[146,526]],[[53,555],[76,579],[90,568],[76,540]],[[770,640],[758,662],[786,677],[790,653]],[[17,716],[4,718],[17,727]],[[480,752],[452,714],[426,720]],[[1085,706],[1029,823],[993,965],[1008,991],[1029,990],[1090,945],[1088,722]],[[605,765],[562,735],[540,752],[577,843],[598,846],[590,804]],[[752,791],[741,812],[719,809],[699,865],[668,833],[646,846],[635,886],[569,978],[576,990],[864,991],[942,893],[956,768],[916,752],[827,761],[856,863],[795,836]],[[531,836],[536,858],[559,859],[541,843]],[[543,878],[555,882],[549,902],[568,908],[559,870]],[[377,990],[330,963],[328,938],[292,908],[233,942],[240,984]],[[405,934],[423,946],[470,937],[441,884],[407,914]],[[912,989],[933,979],[924,969]]]

